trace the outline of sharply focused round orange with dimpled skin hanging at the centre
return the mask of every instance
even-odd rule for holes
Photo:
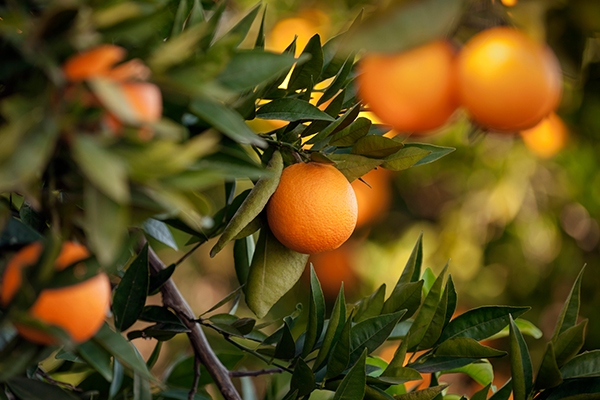
[[[314,162],[283,170],[267,203],[267,219],[275,237],[304,254],[333,250],[354,231],[356,195],[335,167]]]

